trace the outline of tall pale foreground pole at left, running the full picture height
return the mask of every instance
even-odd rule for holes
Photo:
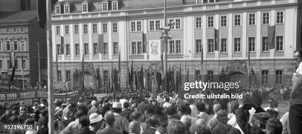
[[[46,40],[47,40],[47,82],[48,82],[48,134],[54,134],[52,42],[51,42],[51,0],[46,0]]]

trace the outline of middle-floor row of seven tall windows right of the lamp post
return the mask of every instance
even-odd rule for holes
[[[275,50],[276,51],[283,51],[284,49],[284,38],[283,36],[276,36],[275,41]],[[171,43],[170,43],[171,45]],[[234,52],[241,52],[241,38],[234,38]],[[201,39],[195,40],[195,48],[196,53],[202,52],[202,41]],[[214,39],[208,39],[207,40],[207,52],[213,53],[215,50],[215,43]],[[220,51],[221,52],[227,52],[227,38],[222,38],[220,43]],[[248,48],[250,52],[256,51],[256,38],[255,37],[249,37],[248,38]],[[262,51],[268,51],[268,40],[267,37],[262,37]]]

